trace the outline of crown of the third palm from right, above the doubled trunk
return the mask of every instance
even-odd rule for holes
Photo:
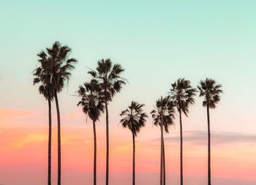
[[[175,105],[170,101],[170,97],[157,99],[155,110],[151,111],[153,124],[156,126],[161,126],[161,113],[163,116],[162,124],[165,128],[165,132],[168,133],[168,128],[170,125],[174,124],[173,120],[175,119]]]

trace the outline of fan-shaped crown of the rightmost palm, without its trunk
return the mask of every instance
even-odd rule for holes
[[[200,91],[199,97],[204,97],[203,107],[210,107],[214,109],[220,100],[220,95],[223,93],[222,85],[217,84],[215,80],[211,78],[206,78],[206,80],[201,80],[200,85],[197,86]]]

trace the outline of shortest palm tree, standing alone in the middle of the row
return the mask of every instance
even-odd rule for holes
[[[141,127],[145,126],[146,113],[143,113],[144,104],[131,102],[131,105],[126,110],[121,111],[121,124],[124,128],[128,128],[132,132],[132,185],[135,185],[135,137],[140,132]]]

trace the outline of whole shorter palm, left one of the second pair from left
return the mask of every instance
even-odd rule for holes
[[[104,101],[100,94],[101,88],[97,80],[91,80],[90,83],[84,83],[79,86],[78,94],[81,97],[78,105],[83,107],[83,112],[86,113],[93,122],[94,128],[94,185],[97,184],[97,137],[95,122],[99,120],[100,114],[104,111]]]

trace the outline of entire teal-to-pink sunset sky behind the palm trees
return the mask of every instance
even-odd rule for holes
[[[127,86],[110,102],[110,184],[132,182],[132,135],[118,125],[132,100],[153,109],[178,78],[214,78],[223,86],[211,110],[212,183],[256,184],[256,1],[1,1],[0,184],[47,182],[48,103],[33,86],[37,53],[59,41],[78,59],[59,94],[62,182],[93,181],[92,124],[72,95],[89,68],[111,58]],[[207,123],[203,99],[184,120],[184,183],[206,184]],[[53,106],[53,184],[56,184]],[[179,126],[165,135],[167,184],[179,183]],[[136,138],[137,183],[159,183],[160,130],[148,118]],[[105,115],[97,122],[98,181],[105,182]],[[15,178],[14,178],[15,176]]]

